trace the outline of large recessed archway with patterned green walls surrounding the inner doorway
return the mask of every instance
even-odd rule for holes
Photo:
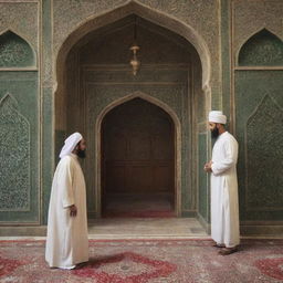
[[[143,67],[133,77],[126,62],[135,18]],[[113,107],[137,97],[160,107],[174,123],[175,214],[195,216],[196,96],[205,97],[198,106],[205,108],[210,92],[206,44],[190,27],[137,3],[95,19],[78,27],[62,45],[55,94],[56,145],[74,130],[81,130],[88,143],[83,169],[90,218],[102,212],[101,123]]]

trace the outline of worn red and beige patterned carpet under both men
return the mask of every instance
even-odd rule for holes
[[[90,240],[81,269],[49,269],[44,241],[0,241],[0,282],[283,282],[283,240],[243,240],[222,256],[210,240]]]

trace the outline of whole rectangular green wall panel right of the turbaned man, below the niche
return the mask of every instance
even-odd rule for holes
[[[235,72],[241,220],[282,220],[283,71]]]

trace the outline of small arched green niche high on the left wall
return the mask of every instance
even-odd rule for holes
[[[0,35],[0,69],[35,65],[35,54],[28,41],[10,30]]]

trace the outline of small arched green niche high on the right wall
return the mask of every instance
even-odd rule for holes
[[[238,55],[239,66],[283,65],[283,42],[275,34],[262,29],[241,46]]]

